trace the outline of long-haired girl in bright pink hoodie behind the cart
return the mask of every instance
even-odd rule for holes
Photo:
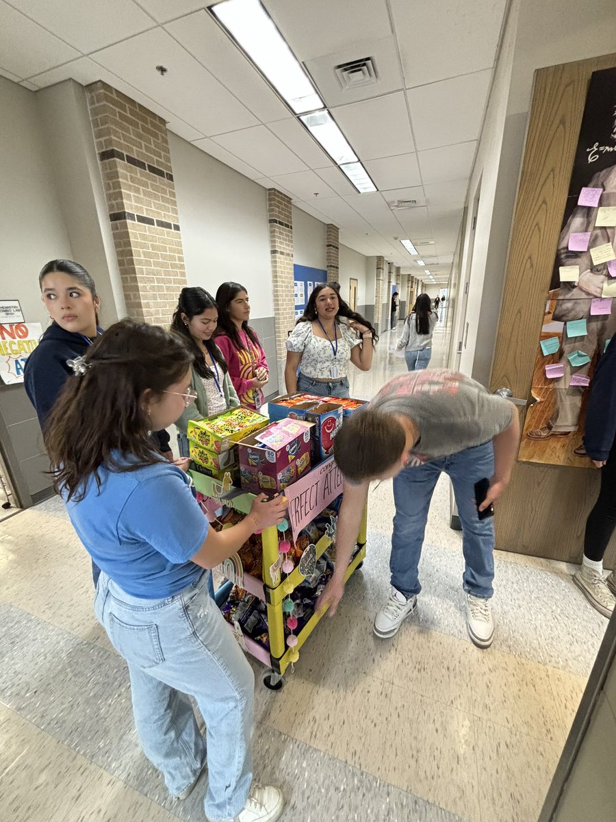
[[[258,411],[263,405],[263,386],[269,379],[269,368],[259,337],[248,325],[248,292],[239,283],[223,283],[216,292],[216,302],[216,343],[227,361],[240,404]]]

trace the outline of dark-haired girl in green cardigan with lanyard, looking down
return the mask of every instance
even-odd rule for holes
[[[177,446],[188,456],[186,431],[191,419],[210,417],[240,404],[229,377],[227,363],[212,335],[218,324],[218,306],[205,289],[182,289],[173,314],[171,330],[180,335],[195,355],[191,389],[196,394],[182,417],[177,420]]]

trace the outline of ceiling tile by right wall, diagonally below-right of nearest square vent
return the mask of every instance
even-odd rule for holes
[[[407,90],[418,151],[479,138],[492,70]]]

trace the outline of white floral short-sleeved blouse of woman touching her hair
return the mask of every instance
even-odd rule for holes
[[[310,380],[331,379],[333,367],[338,369],[338,379],[343,380],[347,376],[351,349],[359,345],[361,339],[356,331],[350,329],[346,323],[337,323],[336,328],[338,353],[335,357],[335,342],[315,336],[310,321],[298,322],[292,334],[287,338],[287,351],[301,352],[300,370]]]

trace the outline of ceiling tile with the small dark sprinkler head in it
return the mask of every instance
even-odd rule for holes
[[[205,136],[258,122],[163,29],[122,40],[91,57]],[[168,68],[165,76],[156,71],[159,63]]]

